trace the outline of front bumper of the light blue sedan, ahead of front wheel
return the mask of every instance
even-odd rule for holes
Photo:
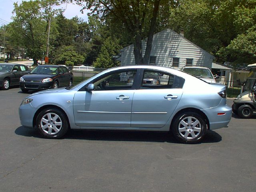
[[[19,107],[20,124],[24,127],[33,127],[33,118],[36,113],[36,108],[34,108],[30,103],[21,105]]]

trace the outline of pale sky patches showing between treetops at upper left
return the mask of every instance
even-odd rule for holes
[[[12,22],[11,17],[13,16],[12,11],[14,9],[14,2],[18,2],[18,4],[20,4],[22,0],[0,0],[0,26]],[[64,12],[64,16],[66,18],[71,19],[74,16],[78,16],[78,18],[82,18],[85,21],[88,20],[88,10],[84,10],[84,14],[82,14],[80,12],[80,6],[74,4],[63,4],[62,7],[64,9],[66,8]]]

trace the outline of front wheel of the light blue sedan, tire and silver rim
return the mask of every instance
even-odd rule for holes
[[[38,114],[36,126],[38,132],[44,138],[58,139],[64,136],[69,129],[67,119],[66,114],[61,110],[57,108],[46,108]]]

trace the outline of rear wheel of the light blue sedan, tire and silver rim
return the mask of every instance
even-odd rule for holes
[[[191,124],[189,124],[189,119],[191,119]],[[194,124],[196,120],[198,122]],[[206,122],[196,112],[184,112],[174,120],[172,132],[174,137],[182,143],[198,143],[206,132]]]

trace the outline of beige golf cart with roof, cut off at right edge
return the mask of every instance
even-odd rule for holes
[[[256,63],[248,65],[250,73],[244,83],[242,93],[234,99],[232,112],[241,118],[250,118],[256,111]]]

